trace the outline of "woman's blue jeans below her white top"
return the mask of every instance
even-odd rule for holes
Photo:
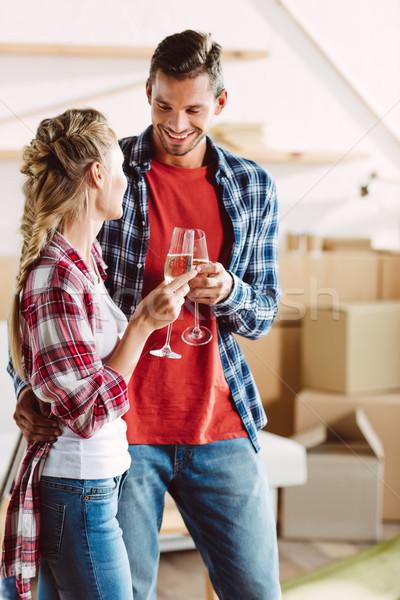
[[[124,479],[41,478],[38,600],[132,600],[116,519]]]

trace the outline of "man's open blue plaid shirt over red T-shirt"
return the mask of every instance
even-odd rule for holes
[[[128,187],[124,214],[107,221],[99,241],[108,265],[106,285],[129,318],[142,299],[143,271],[149,245],[148,188],[151,166],[150,126],[142,135],[120,140]],[[207,138],[217,162],[215,185],[232,220],[234,244],[228,265],[233,288],[214,305],[218,343],[226,380],[244,427],[259,450],[257,430],[266,422],[255,381],[232,335],[257,339],[268,333],[278,309],[278,215],[275,183],[256,163],[234,156]]]

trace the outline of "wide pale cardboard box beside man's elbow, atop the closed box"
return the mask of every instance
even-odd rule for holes
[[[293,325],[309,306],[380,297],[379,256],[374,252],[286,252],[280,254],[279,267],[278,322]]]

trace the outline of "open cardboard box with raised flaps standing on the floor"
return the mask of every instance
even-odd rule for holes
[[[281,534],[380,540],[384,452],[364,411],[295,436],[307,448],[307,483],[282,492]]]

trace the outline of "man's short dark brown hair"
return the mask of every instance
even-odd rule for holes
[[[224,89],[222,48],[209,33],[187,29],[163,39],[151,59],[150,89],[158,70],[178,80],[195,79],[207,73],[215,98]]]

